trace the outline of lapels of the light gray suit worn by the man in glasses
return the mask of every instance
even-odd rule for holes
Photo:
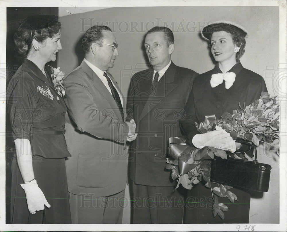
[[[104,83],[101,81],[101,79],[98,77],[98,75],[94,73],[94,71],[88,66],[88,64],[86,64],[84,60],[81,63],[81,67],[87,74],[88,78],[93,82],[94,88],[96,88],[96,90],[98,90],[98,92],[100,92],[102,96],[108,101],[108,103],[110,104],[110,109],[112,109],[117,115],[117,117],[121,119],[121,112],[119,110],[119,107],[117,106],[117,103],[115,102],[115,99],[113,98],[112,94],[110,94],[110,92],[108,91]],[[108,76],[112,77],[109,73]],[[111,78],[111,80],[115,84],[115,80],[113,78]]]

